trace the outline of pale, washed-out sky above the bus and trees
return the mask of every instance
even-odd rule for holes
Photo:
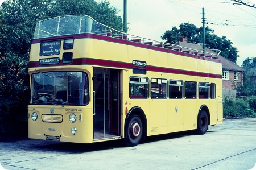
[[[3,1],[0,0],[0,5]],[[123,18],[123,0],[106,1]],[[256,0],[237,1],[256,5]],[[127,0],[127,33],[162,41],[160,37],[166,30],[181,23],[201,27],[204,7],[206,26],[233,43],[238,49],[237,64],[241,66],[247,57],[256,57],[256,7],[233,3],[232,0]]]

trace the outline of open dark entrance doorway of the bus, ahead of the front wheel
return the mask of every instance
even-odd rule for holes
[[[94,140],[119,136],[119,70],[94,67],[93,73]]]

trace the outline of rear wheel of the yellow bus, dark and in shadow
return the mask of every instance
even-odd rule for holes
[[[197,134],[204,135],[208,130],[208,115],[206,111],[201,111],[197,121]]]

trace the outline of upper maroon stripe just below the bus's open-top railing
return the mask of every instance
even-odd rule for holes
[[[175,51],[173,49],[156,47],[154,45],[137,43],[137,42],[132,42],[132,41],[129,41],[129,40],[123,40],[123,39],[114,38],[114,37],[111,37],[111,36],[104,36],[104,35],[98,35],[98,34],[75,34],[75,35],[64,35],[64,36],[56,36],[56,37],[51,37],[51,38],[43,38],[43,39],[34,39],[34,40],[32,40],[32,44],[42,43],[42,42],[46,42],[46,41],[49,41],[49,40],[84,39],[84,38],[92,38],[92,39],[104,40],[104,41],[107,41],[107,42],[126,44],[126,45],[135,46],[135,47],[147,48],[147,49],[152,49],[152,50],[155,50],[155,51],[173,53],[173,54],[176,54],[176,55],[192,57],[192,58],[195,58],[195,59],[207,60],[207,61],[212,61],[212,62],[216,62],[216,63],[221,63],[220,60],[211,59],[209,57],[197,56],[197,55],[193,55],[191,53]]]

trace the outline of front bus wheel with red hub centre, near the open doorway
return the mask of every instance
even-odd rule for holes
[[[141,118],[137,115],[131,115],[128,118],[126,126],[125,145],[126,146],[137,146],[142,139],[143,125]]]

